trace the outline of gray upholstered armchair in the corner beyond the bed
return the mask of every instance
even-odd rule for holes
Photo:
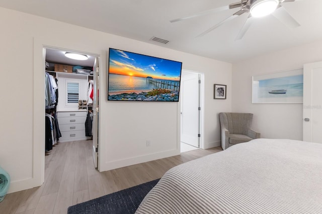
[[[253,121],[251,113],[221,112],[219,113],[219,121],[222,149],[261,137],[261,133],[250,129]]]

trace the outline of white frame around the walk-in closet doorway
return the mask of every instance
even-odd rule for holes
[[[44,45],[45,44],[45,45]],[[91,55],[102,61],[101,54],[91,53],[87,51],[73,50],[70,48],[57,47],[57,44],[50,45],[49,42],[44,42],[34,38],[34,72],[33,72],[33,167],[32,178],[28,183],[24,184],[24,189],[40,186],[45,180],[45,49],[51,48],[62,51],[69,51],[79,54]],[[101,69],[99,68],[101,75]],[[100,124],[100,119],[98,125]],[[99,144],[100,146],[100,144]],[[99,148],[100,150],[100,148]],[[99,154],[100,159],[100,154]],[[100,170],[100,164],[98,165]]]

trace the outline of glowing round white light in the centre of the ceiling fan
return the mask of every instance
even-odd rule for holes
[[[265,17],[273,13],[279,4],[279,0],[257,0],[251,5],[252,17]]]

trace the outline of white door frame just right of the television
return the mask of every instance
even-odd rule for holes
[[[199,133],[200,133],[200,138],[199,138],[199,148],[204,149],[204,74],[202,72],[197,72],[197,71],[191,71],[187,69],[182,69],[182,71],[185,72],[191,72],[200,75],[200,90],[199,90],[199,103],[200,103],[200,121],[199,121]],[[182,90],[182,87],[180,88]],[[180,95],[182,95],[182,91],[180,92]],[[180,144],[181,144],[181,101],[180,104],[178,105],[178,115],[179,115],[179,149],[180,149]]]

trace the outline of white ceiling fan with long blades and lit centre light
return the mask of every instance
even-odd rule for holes
[[[221,12],[221,11],[225,11],[225,10],[229,10],[229,9],[240,8],[239,11],[237,11],[236,13],[231,15],[230,17],[224,19],[223,21],[212,26],[207,31],[205,31],[197,36],[197,37],[204,36],[204,35],[208,34],[209,32],[213,31],[214,29],[218,28],[222,24],[224,24],[224,23],[226,23],[226,22],[228,22],[228,21],[230,21],[242,14],[249,14],[246,22],[244,23],[243,27],[241,28],[241,30],[239,31],[239,33],[235,39],[235,40],[240,40],[241,38],[244,37],[247,30],[251,26],[252,19],[258,18],[258,17],[264,17],[269,14],[272,14],[275,18],[277,18],[280,22],[282,22],[284,25],[286,25],[289,28],[299,27],[300,24],[298,24],[298,22],[296,22],[296,20],[281,5],[282,3],[295,2],[295,1],[298,2],[301,0],[241,0],[240,2],[232,3],[228,6],[200,12],[200,13],[197,13],[197,14],[194,14],[191,16],[171,20],[170,22],[174,23],[174,22],[179,22],[179,21],[183,21],[183,20],[187,20],[187,19],[192,19],[195,17],[204,16],[204,15],[207,15],[210,13],[216,13],[216,12]]]

